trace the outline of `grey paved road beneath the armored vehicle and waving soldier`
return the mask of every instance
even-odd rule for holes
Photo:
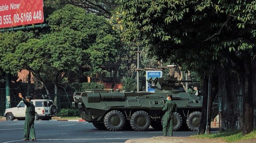
[[[19,143],[24,121],[0,121],[0,143]],[[123,143],[131,138],[162,136],[161,131],[99,131],[92,123],[78,121],[35,121],[36,139],[40,143]],[[176,131],[174,136],[195,135],[195,131]]]

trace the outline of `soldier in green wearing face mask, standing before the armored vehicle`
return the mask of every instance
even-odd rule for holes
[[[166,103],[164,104],[163,111],[164,114],[164,123],[163,123],[163,134],[167,136],[167,128],[169,127],[169,136],[173,136],[173,112],[177,112],[177,105],[171,99],[173,96],[166,96]]]

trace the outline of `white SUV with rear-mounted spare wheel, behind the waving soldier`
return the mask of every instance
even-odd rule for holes
[[[52,100],[32,99],[31,102],[35,105],[35,120],[49,120],[52,119],[52,116],[56,116],[57,107]],[[3,116],[6,117],[6,120],[25,119],[26,108],[27,106],[21,101],[17,107],[5,109]]]

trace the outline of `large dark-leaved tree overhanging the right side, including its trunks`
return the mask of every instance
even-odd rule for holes
[[[126,31],[126,42],[137,42],[149,49],[158,59],[197,71],[209,93],[217,93],[218,68],[234,63],[243,80],[243,133],[253,129],[253,104],[249,68],[255,56],[255,1],[236,0],[118,0]],[[209,77],[208,77],[209,76]],[[206,126],[207,86],[204,86],[202,122]],[[210,94],[211,96],[211,94]],[[213,99],[214,96],[210,97]],[[211,103],[211,102],[210,102]],[[209,121],[209,120],[208,120]],[[209,123],[209,122],[208,122]],[[209,124],[208,124],[209,125]]]

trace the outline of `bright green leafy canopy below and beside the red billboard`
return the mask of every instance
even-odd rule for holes
[[[0,66],[16,74],[21,69],[32,71],[43,84],[57,85],[66,74],[82,65],[92,67],[92,74],[114,61],[119,48],[119,35],[104,18],[86,13],[82,8],[65,5],[47,18],[50,28],[41,33],[2,33]]]

